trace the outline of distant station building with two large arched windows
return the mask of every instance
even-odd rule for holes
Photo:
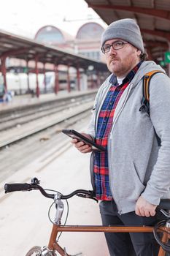
[[[83,24],[75,37],[55,26],[43,26],[36,32],[35,40],[41,43],[58,46],[65,50],[72,50],[76,54],[104,61],[100,50],[101,34],[104,28],[95,22]]]

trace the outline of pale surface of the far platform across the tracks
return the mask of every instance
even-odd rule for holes
[[[41,105],[43,102],[55,101],[58,99],[68,99],[72,97],[78,97],[85,94],[97,92],[96,89],[90,89],[87,91],[59,91],[58,94],[40,94],[39,98],[32,97],[31,94],[14,96],[10,102],[0,102],[0,112],[5,110],[11,110],[16,108],[22,108],[26,105]]]

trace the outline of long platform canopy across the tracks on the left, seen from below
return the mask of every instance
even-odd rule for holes
[[[35,60],[50,64],[63,64],[71,67],[79,65],[80,68],[87,69],[88,66],[93,66],[98,71],[107,71],[107,65],[100,61],[85,58],[84,56],[76,55],[71,51],[62,50],[61,48],[42,44],[33,39],[19,37],[15,34],[10,34],[0,30],[0,58],[11,57],[24,59],[26,61]]]

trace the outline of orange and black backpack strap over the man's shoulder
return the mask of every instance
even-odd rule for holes
[[[150,72],[147,72],[147,74],[144,75],[143,77],[143,97],[142,97],[142,106],[139,108],[139,111],[145,110],[148,115],[150,116],[150,79],[152,78],[153,75],[157,73],[163,73],[164,72],[160,70],[152,70]],[[158,141],[158,146],[161,146],[161,139],[158,137],[156,134],[156,138]]]

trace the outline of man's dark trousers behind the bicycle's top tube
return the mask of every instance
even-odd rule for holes
[[[119,215],[114,201],[101,201],[103,225],[153,225],[155,217],[139,217],[134,211]],[[152,233],[105,233],[111,256],[157,256],[159,246]]]

